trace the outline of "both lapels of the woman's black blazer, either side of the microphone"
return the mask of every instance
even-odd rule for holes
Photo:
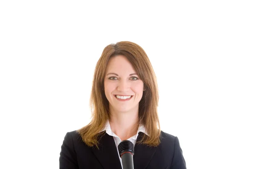
[[[104,131],[105,132],[105,131]],[[144,133],[139,132],[137,141],[143,137]],[[119,153],[116,149],[115,141],[113,136],[103,134],[99,139],[99,149],[96,147],[92,148],[93,154],[102,164],[104,169],[122,169]],[[145,169],[149,161],[154,155],[156,147],[149,147],[143,144],[135,144],[134,147],[134,169]]]

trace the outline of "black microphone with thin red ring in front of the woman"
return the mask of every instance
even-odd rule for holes
[[[129,140],[123,140],[118,145],[118,151],[122,159],[123,169],[134,169],[134,144],[132,144],[132,142]]]

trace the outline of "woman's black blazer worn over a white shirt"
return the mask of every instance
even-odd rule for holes
[[[105,132],[105,131],[104,131]],[[139,132],[137,141],[143,136]],[[60,153],[60,169],[122,169],[113,137],[105,133],[99,149],[89,147],[76,132],[67,132]],[[135,144],[134,169],[186,169],[177,137],[161,131],[157,147]]]

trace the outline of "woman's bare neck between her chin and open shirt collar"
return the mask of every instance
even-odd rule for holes
[[[137,112],[110,111],[109,124],[113,133],[120,139],[126,140],[137,134],[139,116]]]

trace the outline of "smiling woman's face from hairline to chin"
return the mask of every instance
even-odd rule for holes
[[[143,95],[143,81],[139,79],[125,56],[113,56],[108,62],[104,79],[109,108],[115,112],[139,110]]]

